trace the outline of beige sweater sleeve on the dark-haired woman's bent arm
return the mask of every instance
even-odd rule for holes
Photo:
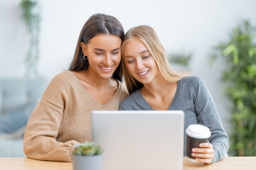
[[[50,161],[72,161],[71,148],[78,142],[56,140],[67,101],[68,89],[65,89],[61,79],[53,78],[26,125],[23,150],[27,157]]]

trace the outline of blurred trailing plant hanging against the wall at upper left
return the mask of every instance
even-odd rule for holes
[[[37,1],[22,0],[19,4],[21,16],[29,35],[29,47],[24,61],[26,77],[35,77],[39,60],[39,33],[41,14]]]

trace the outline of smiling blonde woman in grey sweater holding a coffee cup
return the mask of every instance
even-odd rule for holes
[[[202,124],[210,128],[209,143],[192,149],[198,162],[212,164],[228,152],[228,135],[206,85],[198,77],[176,74],[166,59],[164,47],[154,30],[138,26],[129,30],[122,44],[122,67],[130,96],[119,110],[181,110],[185,127]],[[186,155],[184,133],[184,156]]]

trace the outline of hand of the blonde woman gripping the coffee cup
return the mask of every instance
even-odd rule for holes
[[[199,147],[192,149],[192,157],[196,157],[198,162],[211,164],[213,162],[213,145],[208,142],[201,143]]]

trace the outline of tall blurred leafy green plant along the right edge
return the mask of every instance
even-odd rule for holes
[[[225,95],[232,106],[230,155],[256,156],[256,42],[255,27],[242,21],[228,42],[215,47],[216,57],[225,61],[222,74]]]

